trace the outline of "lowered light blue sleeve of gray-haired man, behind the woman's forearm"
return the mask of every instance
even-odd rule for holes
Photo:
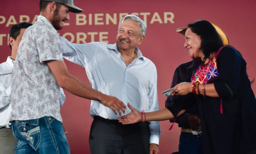
[[[151,88],[148,93],[149,98],[149,112],[159,110],[158,96],[157,96],[157,72],[155,68],[154,77]],[[149,143],[159,144],[159,138],[161,136],[159,121],[149,121],[150,138]]]

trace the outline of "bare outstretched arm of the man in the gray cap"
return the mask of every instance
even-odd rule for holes
[[[67,71],[67,67],[63,61],[46,61],[47,65],[51,69],[58,85],[70,93],[77,96],[99,101],[101,104],[111,108],[115,114],[117,111],[121,115],[121,110],[125,113],[126,106],[119,99],[105,95],[100,91],[92,89],[78,80],[76,77],[70,75]]]

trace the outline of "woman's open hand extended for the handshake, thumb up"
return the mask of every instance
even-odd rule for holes
[[[133,108],[129,103],[128,107],[132,110],[131,113],[121,116],[118,118],[119,123],[122,123],[123,125],[126,124],[135,124],[142,121],[141,113],[138,112],[135,108]]]

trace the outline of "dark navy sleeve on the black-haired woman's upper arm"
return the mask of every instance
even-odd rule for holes
[[[240,82],[241,62],[240,54],[232,47],[222,48],[216,58],[219,79],[214,82],[220,98],[233,97]]]

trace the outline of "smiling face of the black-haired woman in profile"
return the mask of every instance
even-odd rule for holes
[[[188,28],[185,33],[185,44],[184,47],[188,50],[189,56],[191,58],[201,59],[204,57],[203,51],[201,48],[201,38],[196,33],[191,31],[191,28]]]

